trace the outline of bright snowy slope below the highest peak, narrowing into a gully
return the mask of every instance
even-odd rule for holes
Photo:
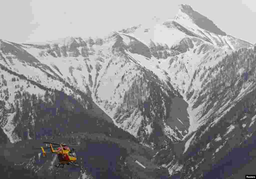
[[[171,84],[181,94],[186,93],[186,96],[198,93],[201,88],[202,81],[195,76],[201,69],[216,65],[232,50],[252,46],[246,41],[227,35],[189,5],[180,5],[174,19],[140,25],[132,31],[125,31],[125,34],[150,47],[155,58],[164,59],[153,62],[154,58],[151,58],[153,64],[149,65],[152,66],[150,69],[154,73],[168,73]],[[193,102],[188,103],[189,116],[193,119],[190,121],[191,132],[199,126],[198,113],[204,104],[193,109],[193,105],[190,105]]]

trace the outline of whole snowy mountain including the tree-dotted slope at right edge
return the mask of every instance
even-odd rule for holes
[[[253,45],[223,32],[189,5],[180,5],[174,18],[153,18],[105,39],[0,42],[0,122],[6,140],[23,139],[24,131],[28,139],[35,139],[42,119],[33,107],[38,101],[31,95],[54,104],[59,114],[54,96],[60,96],[60,91],[78,101],[87,115],[113,122],[147,146],[166,146],[158,155],[166,155],[166,161],[160,163],[171,175],[174,170],[188,170],[188,164],[179,160],[194,161],[190,151],[205,139],[203,133],[208,135],[208,128],[220,126],[217,121],[223,121],[229,111],[244,106],[242,101],[254,90]],[[244,80],[244,75],[251,81]],[[24,107],[27,98],[31,105]],[[74,111],[72,107],[66,106]],[[239,129],[240,125],[232,122],[243,110],[237,109],[225,130]],[[247,129],[245,123],[241,125]],[[225,142],[219,144],[217,136],[201,150],[211,145],[223,147]],[[166,152],[170,148],[175,157]],[[160,160],[158,155],[154,160]]]

